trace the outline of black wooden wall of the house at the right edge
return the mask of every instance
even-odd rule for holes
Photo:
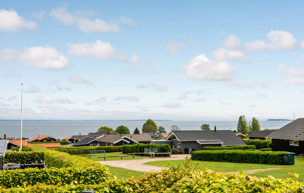
[[[298,146],[290,145],[289,139],[272,139],[273,151],[287,151],[293,152],[296,155],[304,154],[304,141],[299,140]]]

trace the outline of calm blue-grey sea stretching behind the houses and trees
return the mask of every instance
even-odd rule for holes
[[[260,121],[261,129],[279,129],[291,121]],[[137,127],[140,131],[145,121],[23,121],[23,137],[35,137],[37,135],[49,135],[56,138],[64,138],[72,135],[86,135],[96,132],[101,126],[116,129],[125,125],[133,133]],[[155,121],[157,126],[165,127],[170,131],[171,125],[177,125],[181,130],[199,130],[202,124],[209,124],[213,129],[216,125],[218,130],[236,130],[237,121]],[[20,121],[0,121],[0,136],[20,137]]]

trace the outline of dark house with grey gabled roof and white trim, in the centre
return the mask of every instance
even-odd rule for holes
[[[170,142],[171,141],[171,142]],[[231,130],[189,130],[172,131],[166,140],[153,140],[151,143],[170,144],[173,149],[180,149],[183,154],[202,150],[203,147],[245,146]]]

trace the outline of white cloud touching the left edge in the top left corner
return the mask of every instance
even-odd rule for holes
[[[0,30],[19,31],[21,29],[35,30],[37,23],[26,21],[15,10],[0,10]]]

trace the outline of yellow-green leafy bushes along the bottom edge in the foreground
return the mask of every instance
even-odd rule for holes
[[[234,173],[220,174],[215,171],[194,170],[185,165],[172,166],[160,172],[147,172],[138,179],[114,179],[101,184],[35,185],[1,188],[4,193],[80,193],[83,190],[96,192],[303,192],[304,184],[290,178],[255,178]]]

